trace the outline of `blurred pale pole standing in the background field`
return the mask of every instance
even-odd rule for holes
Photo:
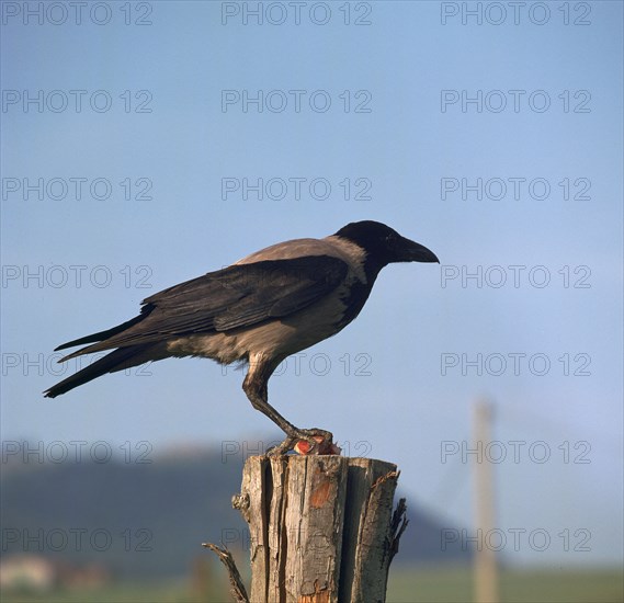
[[[484,454],[486,446],[491,442],[492,414],[493,406],[488,400],[475,403],[474,445],[480,451],[474,474],[475,524],[478,535],[475,554],[475,603],[499,601],[496,553],[488,546],[488,534],[496,527],[492,466]]]

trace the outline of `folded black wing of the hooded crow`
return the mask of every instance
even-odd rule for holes
[[[283,318],[333,291],[348,270],[344,261],[330,255],[236,264],[161,291],[143,302],[140,316],[57,349],[100,341],[69,359]]]

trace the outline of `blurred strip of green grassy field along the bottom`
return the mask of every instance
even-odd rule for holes
[[[501,576],[501,603],[621,603],[624,576],[604,571],[506,571]],[[120,584],[99,590],[58,591],[41,595],[2,593],[3,603],[229,603],[222,582],[204,595],[192,595],[188,583]],[[388,603],[469,603],[472,578],[467,569],[390,571]]]

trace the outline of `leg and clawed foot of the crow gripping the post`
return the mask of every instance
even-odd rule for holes
[[[333,436],[329,431],[320,429],[298,429],[269,403],[269,377],[273,374],[277,364],[279,363],[274,361],[263,362],[262,356],[258,354],[253,361],[250,361],[249,372],[247,373],[247,377],[245,377],[245,382],[242,382],[242,389],[249,398],[251,406],[269,417],[269,419],[286,434],[286,439],[281,444],[266,451],[268,454],[271,456],[286,454],[293,450],[299,440],[308,442],[310,444],[310,452],[314,453],[321,447],[315,436],[320,436],[322,439],[321,443],[331,444]]]

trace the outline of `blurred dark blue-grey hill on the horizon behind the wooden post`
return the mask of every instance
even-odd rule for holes
[[[223,463],[217,451],[189,450],[150,464],[9,460],[0,481],[3,556],[97,564],[124,580],[188,574],[206,541],[248,559],[247,524],[230,504],[240,489],[240,457]],[[415,500],[408,499],[408,516],[397,562],[468,560],[468,553],[441,550],[442,521]]]

